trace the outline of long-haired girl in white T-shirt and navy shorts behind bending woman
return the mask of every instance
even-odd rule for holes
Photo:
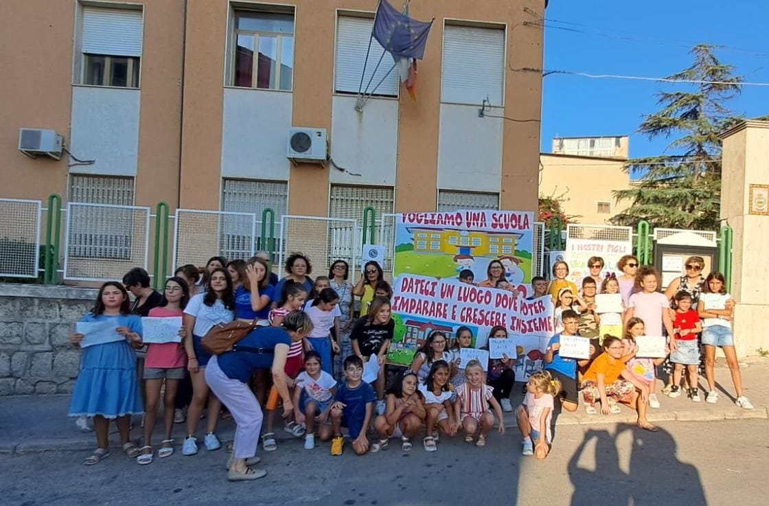
[[[181,454],[198,453],[195,430],[198,428],[200,414],[208,400],[208,419],[206,420],[205,448],[209,451],[221,448],[221,442],[214,434],[219,420],[221,402],[215,396],[208,396],[208,384],[205,382],[205,368],[211,354],[201,345],[202,338],[215,325],[228,323],[235,319],[235,294],[232,280],[227,269],[215,268],[208,276],[208,289],[191,298],[185,308],[185,350],[187,351],[187,369],[192,380],[192,401],[187,410],[187,437],[181,446]]]

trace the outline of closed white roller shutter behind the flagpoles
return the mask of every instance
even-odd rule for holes
[[[335,90],[344,93],[358,93],[361,86],[361,73],[363,73],[363,64],[366,61],[366,48],[371,38],[371,29],[374,28],[374,20],[367,18],[354,18],[350,16],[339,16],[337,22],[337,47],[336,47],[336,74]],[[371,40],[371,52],[368,55],[366,63],[366,74],[363,78],[363,87],[361,92],[366,89],[371,75],[379,62],[379,58],[384,53],[384,48],[379,45],[376,39]],[[376,75],[371,79],[371,85],[368,86],[368,93],[374,90],[378,82],[384,78],[384,81],[374,91],[374,95],[398,96],[398,87],[401,84],[398,75],[398,69],[394,65],[390,53],[386,53],[382,58]],[[384,76],[387,75],[385,78]]]

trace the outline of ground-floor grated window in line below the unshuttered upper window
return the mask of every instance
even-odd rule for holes
[[[254,181],[248,179],[225,179],[222,181],[221,210],[228,212],[251,212],[256,215],[258,221],[256,231],[256,249],[269,249],[269,245],[261,244],[262,212],[270,208],[275,211],[275,250],[279,251],[281,216],[288,209],[288,183],[285,181]],[[241,258],[248,256],[251,245],[251,225],[243,220],[228,221],[228,225],[222,228],[221,251],[228,251],[228,258]],[[268,225],[269,227],[269,225]],[[266,229],[269,235],[270,228]],[[235,252],[246,251],[245,255],[235,256]]]

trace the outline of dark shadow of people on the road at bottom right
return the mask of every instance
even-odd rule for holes
[[[632,438],[629,446],[625,434]],[[618,448],[618,439],[622,448]],[[595,442],[594,456],[586,454],[591,441]],[[619,463],[621,456],[627,461],[628,452],[630,472],[626,473]],[[580,466],[583,458],[594,470]],[[652,433],[621,424],[614,435],[591,429],[569,460],[568,471],[574,485],[571,506],[707,504],[699,472],[678,460],[675,440],[662,428]]]

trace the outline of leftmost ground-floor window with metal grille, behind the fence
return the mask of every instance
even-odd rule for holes
[[[134,209],[113,207],[134,204],[134,179],[96,175],[70,175],[69,201],[98,206],[72,206],[68,216],[70,258],[129,260],[135,230]]]

